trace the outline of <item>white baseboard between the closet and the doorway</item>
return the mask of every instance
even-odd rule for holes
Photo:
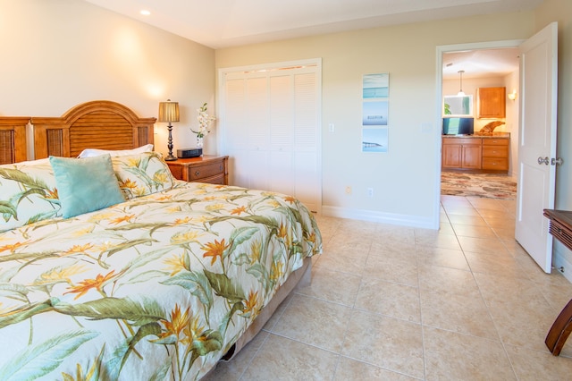
[[[324,216],[351,218],[380,224],[399,224],[424,229],[439,229],[439,226],[435,226],[433,220],[430,218],[374,212],[372,210],[322,206],[322,214]]]

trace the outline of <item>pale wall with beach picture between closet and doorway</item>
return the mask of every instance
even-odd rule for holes
[[[324,213],[426,226],[439,213],[436,47],[527,38],[533,26],[533,13],[523,12],[357,30],[219,49],[216,67],[321,57]],[[373,72],[390,74],[386,154],[360,149],[361,80]],[[329,123],[335,132],[328,132]],[[374,198],[366,197],[367,188],[374,188]]]

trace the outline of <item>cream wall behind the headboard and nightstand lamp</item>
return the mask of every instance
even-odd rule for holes
[[[156,117],[171,98],[181,106],[177,149],[195,144],[196,109],[214,110],[213,49],[84,1],[0,0],[0,51],[2,115],[60,116],[107,99]],[[166,134],[157,123],[163,153]]]

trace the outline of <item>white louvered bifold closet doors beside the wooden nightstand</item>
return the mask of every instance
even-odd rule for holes
[[[319,70],[314,66],[228,72],[223,89],[223,154],[231,183],[321,204]]]

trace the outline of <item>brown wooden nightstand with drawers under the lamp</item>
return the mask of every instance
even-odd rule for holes
[[[229,157],[205,155],[166,162],[175,179],[185,182],[229,183]]]

